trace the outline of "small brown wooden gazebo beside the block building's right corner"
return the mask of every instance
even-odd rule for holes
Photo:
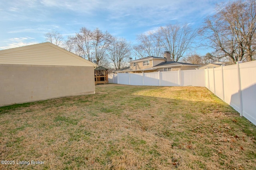
[[[102,66],[94,69],[94,80],[95,84],[106,84],[108,83],[108,69]]]

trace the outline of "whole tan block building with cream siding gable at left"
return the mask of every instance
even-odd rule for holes
[[[94,94],[97,65],[52,43],[0,51],[0,106]]]

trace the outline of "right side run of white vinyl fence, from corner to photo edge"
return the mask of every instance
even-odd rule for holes
[[[256,125],[256,61],[205,69],[206,88]]]

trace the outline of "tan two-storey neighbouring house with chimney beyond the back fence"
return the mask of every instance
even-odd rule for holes
[[[126,70],[117,70],[116,72],[157,72],[157,71],[176,71],[176,70],[194,70],[198,64],[181,63],[171,61],[170,52],[164,52],[162,57],[144,57],[142,59],[130,61],[130,68]]]

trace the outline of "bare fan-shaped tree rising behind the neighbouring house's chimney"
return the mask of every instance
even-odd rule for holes
[[[164,51],[170,51],[171,58],[178,61],[186,51],[192,47],[194,38],[197,36],[196,30],[186,25],[166,25],[160,27],[159,42],[164,48]]]

